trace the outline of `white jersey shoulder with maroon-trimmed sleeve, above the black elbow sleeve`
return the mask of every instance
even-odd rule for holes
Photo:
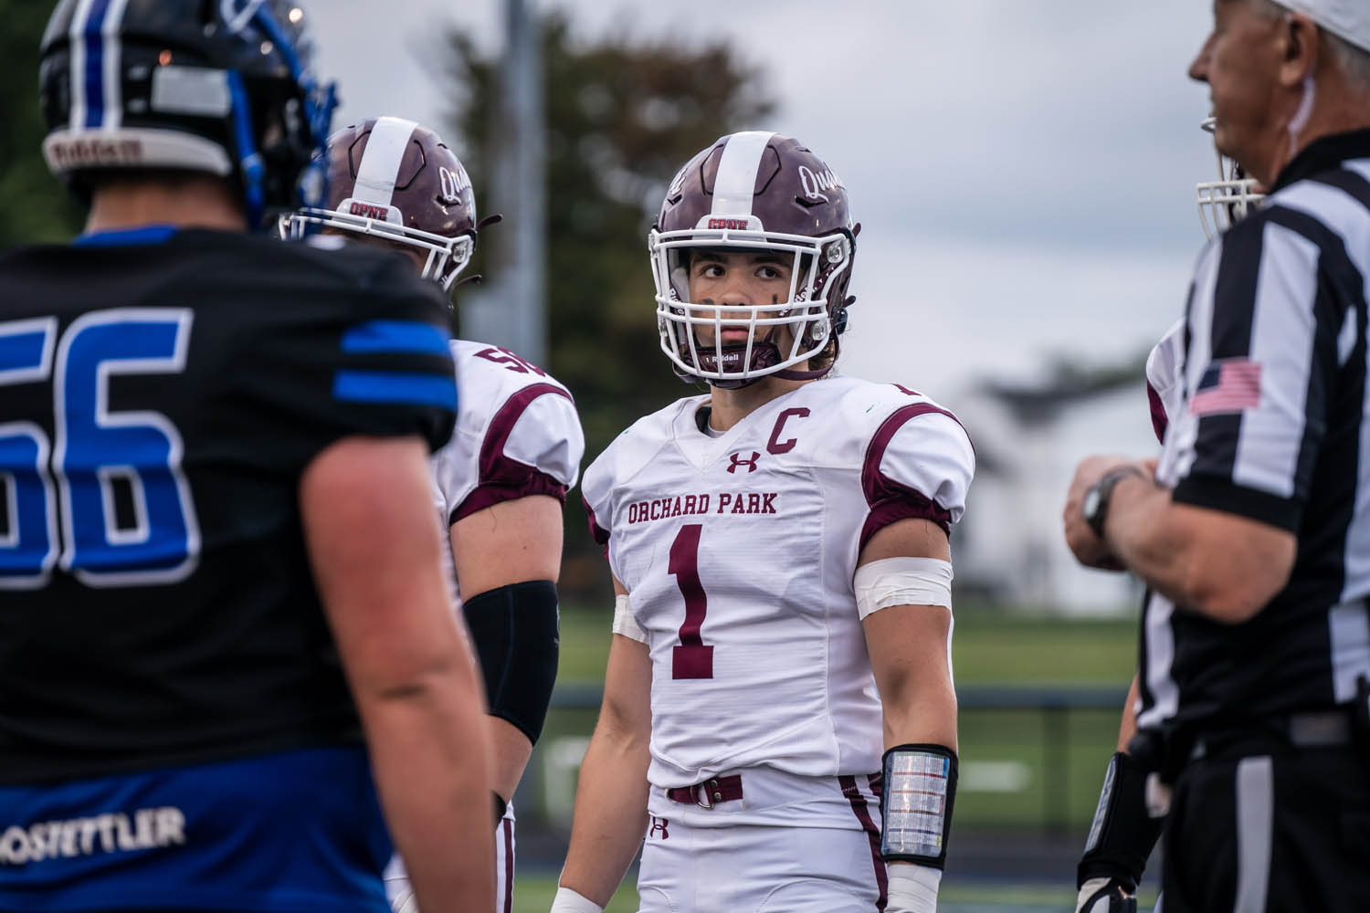
[[[452,339],[456,430],[429,461],[433,502],[444,532],[477,511],[529,494],[566,498],[585,456],[571,394],[519,356]],[[451,538],[443,550],[455,582]]]

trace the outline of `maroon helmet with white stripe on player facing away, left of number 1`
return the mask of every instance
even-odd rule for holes
[[[444,289],[471,261],[477,230],[471,179],[443,140],[412,120],[377,118],[329,137],[329,205],[281,220],[281,235],[310,226],[355,231],[427,250],[423,278]]]

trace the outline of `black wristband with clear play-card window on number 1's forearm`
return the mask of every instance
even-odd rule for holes
[[[945,868],[955,802],[955,751],[945,745],[896,745],[885,751],[880,793],[885,861]]]

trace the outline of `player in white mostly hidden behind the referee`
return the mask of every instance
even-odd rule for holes
[[[1212,133],[1214,119],[1203,122]],[[1195,185],[1199,203],[1199,222],[1210,240],[1260,205],[1265,194],[1255,181],[1241,172],[1241,167],[1215,151],[1218,179]],[[1160,342],[1147,356],[1147,397],[1151,404],[1151,426],[1156,441],[1166,442],[1166,428],[1184,401],[1185,319],[1175,320],[1160,337]],[[1075,511],[1066,508],[1067,527]],[[1137,909],[1134,894],[1147,865],[1147,857],[1160,836],[1162,820],[1151,819],[1145,809],[1145,777],[1128,753],[1129,742],[1137,732],[1136,705],[1140,693],[1138,676],[1132,687],[1118,728],[1118,747],[1108,761],[1104,786],[1095,809],[1095,820],[1085,840],[1085,853],[1075,871],[1075,913],[1132,913]],[[1160,901],[1156,910],[1160,910]]]

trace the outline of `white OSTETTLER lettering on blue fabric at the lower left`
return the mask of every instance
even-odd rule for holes
[[[0,834],[0,866],[96,853],[132,853],[185,843],[185,814],[164,805],[64,821],[11,825]]]

